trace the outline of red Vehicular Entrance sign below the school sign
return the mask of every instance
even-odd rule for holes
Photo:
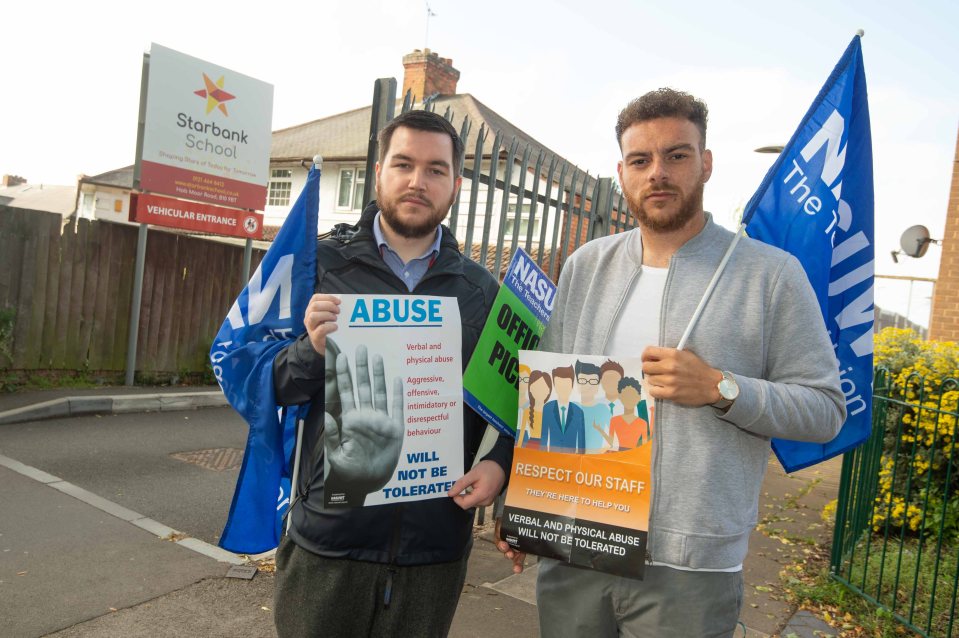
[[[263,214],[149,193],[136,196],[130,221],[233,237],[263,237]]]

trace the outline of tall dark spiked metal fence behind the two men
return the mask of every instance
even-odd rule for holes
[[[376,134],[393,117],[396,81],[377,80],[370,118],[367,174],[378,152]],[[409,92],[401,113],[413,108],[436,112],[444,98],[433,96],[417,104]],[[460,158],[463,187],[447,223],[463,245],[463,252],[501,275],[517,246],[522,246],[546,273],[558,279],[563,263],[582,244],[603,235],[635,227],[617,183],[592,177],[555,153],[539,148],[516,134],[475,123],[447,106],[442,113],[464,140]],[[515,133],[515,132],[514,132]],[[364,201],[372,197],[372,180],[365,184]]]

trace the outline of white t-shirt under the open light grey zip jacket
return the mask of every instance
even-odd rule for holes
[[[629,298],[616,318],[603,354],[620,358],[638,357],[643,354],[646,346],[659,345],[659,315],[663,307],[663,290],[666,288],[668,274],[668,268],[643,266],[629,292]],[[656,489],[655,486],[653,489]],[[743,569],[741,563],[724,569],[695,569],[656,561],[652,564],[684,572],[738,572]]]

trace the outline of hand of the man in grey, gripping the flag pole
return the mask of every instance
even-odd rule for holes
[[[643,350],[643,385],[649,396],[699,407],[719,401],[723,373],[689,350],[649,346]]]

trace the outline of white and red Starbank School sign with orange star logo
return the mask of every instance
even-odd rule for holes
[[[273,86],[155,43],[147,68],[141,190],[262,210]]]

